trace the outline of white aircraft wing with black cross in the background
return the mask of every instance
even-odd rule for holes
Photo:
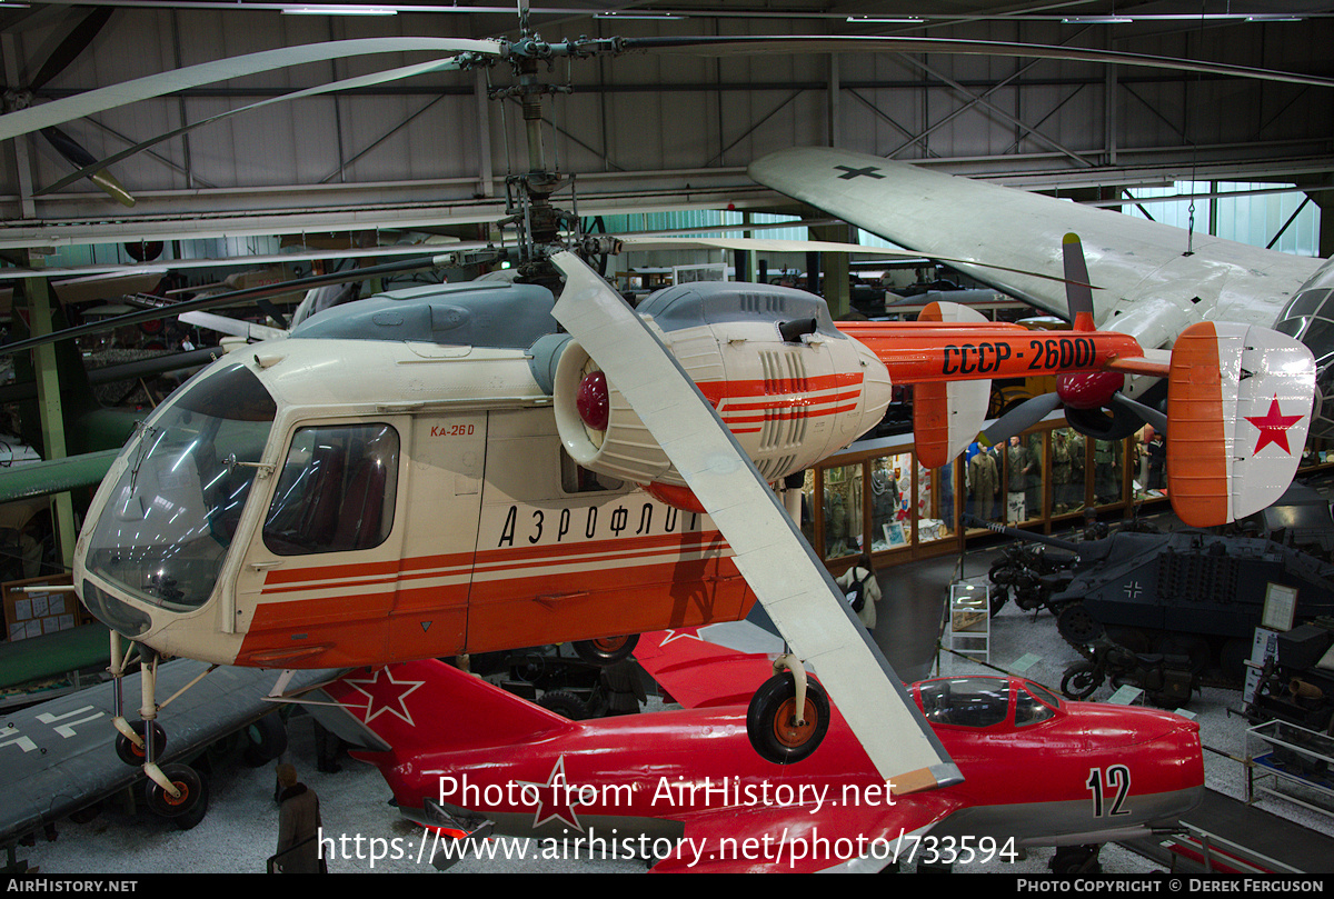
[[[1141,340],[1149,348],[1170,345],[1199,319],[1273,327],[1322,263],[1203,233],[1194,235],[1186,255],[1187,235],[1173,225],[842,149],[780,151],[752,163],[750,176],[924,256],[1003,261],[1057,276],[1062,239],[1078,233],[1098,288],[1099,327],[1150,301],[1171,311],[1165,343]],[[950,265],[1066,315],[1065,289],[1055,281],[967,261]]]

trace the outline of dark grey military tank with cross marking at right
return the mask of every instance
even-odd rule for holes
[[[1070,584],[1049,600],[1075,648],[1106,635],[1235,679],[1270,586],[1294,591],[1294,623],[1334,615],[1334,564],[1262,538],[1119,532],[1081,543],[1078,555]]]

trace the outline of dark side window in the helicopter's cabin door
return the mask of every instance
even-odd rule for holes
[[[280,556],[380,546],[394,530],[399,433],[387,424],[300,428],[264,520]]]

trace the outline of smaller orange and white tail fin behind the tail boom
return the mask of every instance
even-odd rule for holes
[[[986,321],[976,309],[959,303],[931,303],[918,321]],[[954,380],[918,384],[912,389],[912,439],[918,460],[939,468],[978,439],[987,416],[991,380]]]

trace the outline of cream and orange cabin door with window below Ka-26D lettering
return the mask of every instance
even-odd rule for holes
[[[386,658],[411,439],[412,420],[400,415],[293,427],[237,574],[245,663],[309,668]]]

